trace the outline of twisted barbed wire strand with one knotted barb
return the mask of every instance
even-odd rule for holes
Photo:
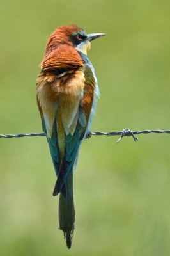
[[[97,135],[97,136],[119,136],[120,138],[116,143],[119,143],[120,140],[125,137],[125,136],[132,136],[134,141],[136,142],[138,139],[135,137],[136,134],[150,134],[150,133],[157,133],[157,134],[162,134],[162,133],[167,133],[170,134],[170,130],[144,130],[144,131],[131,131],[130,129],[126,128],[123,129],[123,131],[120,132],[91,132],[88,134],[87,138],[90,138],[91,135]],[[35,137],[35,136],[45,136],[45,133],[25,133],[25,134],[0,134],[0,138],[22,138],[22,137]]]

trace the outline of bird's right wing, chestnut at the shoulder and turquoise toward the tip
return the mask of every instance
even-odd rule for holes
[[[73,134],[66,134],[66,146],[65,154],[62,159],[62,163],[59,169],[58,179],[56,186],[54,188],[53,195],[57,195],[63,185],[65,184],[66,177],[70,170],[73,168],[73,165],[76,163],[77,154],[79,152],[79,146],[83,138],[86,137],[86,134],[89,131],[89,121],[91,119],[91,109],[94,102],[94,91],[96,89],[96,81],[93,74],[93,70],[89,65],[84,64],[83,68],[84,73],[84,90],[83,97],[79,102],[78,106],[78,118]]]

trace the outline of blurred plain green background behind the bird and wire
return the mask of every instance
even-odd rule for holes
[[[91,131],[170,129],[170,2],[3,1],[0,133],[41,132],[35,79],[50,33],[77,24],[101,98]],[[93,136],[74,176],[72,249],[58,228],[56,180],[45,138],[0,139],[0,254],[170,255],[170,136]]]

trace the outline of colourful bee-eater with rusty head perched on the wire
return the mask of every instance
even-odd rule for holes
[[[53,196],[59,195],[59,229],[71,248],[75,223],[73,169],[81,141],[90,132],[99,96],[93,65],[87,57],[91,41],[103,33],[86,34],[75,25],[61,26],[47,41],[36,80],[42,129],[47,136],[57,175]]]

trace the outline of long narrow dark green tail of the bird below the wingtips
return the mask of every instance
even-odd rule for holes
[[[72,238],[75,223],[75,211],[73,204],[73,170],[70,170],[65,182],[66,197],[59,194],[59,229],[63,230],[66,246],[72,246]]]

